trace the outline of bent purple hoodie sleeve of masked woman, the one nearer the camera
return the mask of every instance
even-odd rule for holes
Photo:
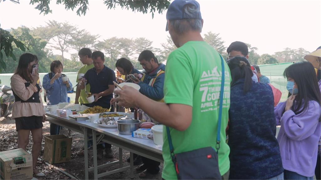
[[[316,101],[310,101],[308,110],[295,114],[292,110],[284,112],[281,118],[286,136],[292,140],[301,141],[311,136],[320,119],[320,105]]]

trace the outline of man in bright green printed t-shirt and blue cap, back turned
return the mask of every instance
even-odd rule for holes
[[[164,100],[155,102],[124,86],[116,90],[115,101],[125,107],[139,107],[159,123],[169,127],[174,153],[212,146],[215,149],[221,89],[220,54],[201,36],[203,19],[195,0],[175,0],[167,14],[167,27],[178,47],[170,53],[165,73]],[[225,83],[221,119],[221,148],[218,163],[223,179],[229,176],[230,148],[225,142],[225,129],[230,108],[230,71],[224,61]],[[176,179],[169,151],[166,128],[163,129],[163,179]],[[200,172],[201,173],[201,172]]]

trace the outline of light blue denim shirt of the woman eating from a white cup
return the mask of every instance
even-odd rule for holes
[[[42,81],[42,87],[47,91],[47,105],[68,102],[67,91],[71,91],[73,89],[73,85],[70,80],[69,88],[67,88],[61,77],[56,79],[53,84],[50,84],[50,80],[49,75],[46,74]]]

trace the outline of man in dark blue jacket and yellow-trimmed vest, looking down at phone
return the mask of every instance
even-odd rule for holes
[[[141,87],[139,90],[140,93],[155,101],[163,101],[165,65],[162,63],[158,63],[158,60],[155,57],[155,55],[149,50],[144,50],[142,53],[140,53],[138,61],[145,70],[145,74],[143,75],[140,81],[133,80],[133,82]],[[136,78],[138,78],[138,76],[136,76]],[[153,119],[151,120],[153,121]],[[137,158],[139,158],[139,156]],[[142,159],[143,164],[136,168],[137,171],[143,171],[139,174],[140,178],[149,178],[152,177],[152,175],[157,174],[159,172],[160,162],[150,160],[144,157],[142,157]]]

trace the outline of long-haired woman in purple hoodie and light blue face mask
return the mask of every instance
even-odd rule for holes
[[[292,64],[284,77],[288,79],[289,98],[274,109],[276,124],[281,125],[277,140],[284,179],[313,179],[321,136],[317,77],[309,62]]]

